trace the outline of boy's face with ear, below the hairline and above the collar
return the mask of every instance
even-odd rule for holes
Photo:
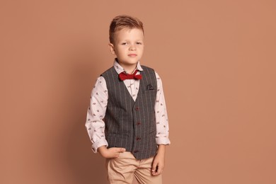
[[[123,68],[135,68],[144,51],[144,33],[137,28],[124,28],[114,34],[114,43],[109,47]]]

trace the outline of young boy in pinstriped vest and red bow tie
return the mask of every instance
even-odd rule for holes
[[[140,65],[144,28],[131,16],[110,24],[113,67],[91,93],[86,129],[92,149],[106,158],[110,183],[162,183],[168,117],[159,75]]]

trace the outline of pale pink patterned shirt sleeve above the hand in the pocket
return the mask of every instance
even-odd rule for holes
[[[103,76],[98,77],[91,92],[90,105],[86,116],[86,130],[92,142],[94,153],[100,146],[108,146],[105,139],[105,111],[108,104],[108,89]]]

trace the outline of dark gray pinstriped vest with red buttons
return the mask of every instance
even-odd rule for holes
[[[142,79],[134,101],[114,67],[105,71],[108,88],[108,107],[105,113],[105,137],[108,148],[123,147],[138,160],[156,154],[157,82],[154,69],[142,66]]]

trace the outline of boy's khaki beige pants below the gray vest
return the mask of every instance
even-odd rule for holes
[[[162,176],[151,176],[154,157],[137,160],[132,153],[125,151],[116,159],[106,159],[110,184],[132,184],[135,177],[141,184],[161,184]]]

